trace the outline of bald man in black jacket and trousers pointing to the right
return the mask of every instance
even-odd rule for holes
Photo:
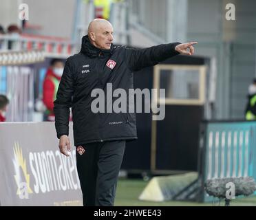
[[[109,111],[106,103],[112,104],[118,97],[96,95],[96,91],[107,94],[111,85],[113,90],[129,94],[134,87],[133,72],[178,54],[192,55],[197,43],[169,43],[138,50],[114,46],[113,32],[111,23],[104,19],[89,23],[81,52],[67,58],[54,102],[59,149],[67,157],[71,151],[68,124],[72,107],[84,206],[114,206],[125,143],[137,139],[135,113]],[[95,112],[92,105],[102,97],[105,105]]]

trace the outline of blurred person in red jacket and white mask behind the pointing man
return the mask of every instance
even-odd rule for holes
[[[43,104],[45,104],[46,111],[43,116],[44,121],[54,122],[54,100],[58,85],[63,74],[64,63],[61,59],[54,58],[50,62],[50,67],[47,69],[45,79],[43,80]]]

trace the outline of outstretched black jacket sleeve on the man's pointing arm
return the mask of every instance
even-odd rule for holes
[[[161,44],[145,49],[125,48],[125,62],[132,71],[158,64],[161,61],[180,54],[175,46],[180,43]]]

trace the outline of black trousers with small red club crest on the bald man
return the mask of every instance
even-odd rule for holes
[[[76,167],[83,206],[114,206],[125,140],[76,146]]]

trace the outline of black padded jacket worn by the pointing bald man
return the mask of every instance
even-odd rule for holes
[[[137,139],[135,113],[93,113],[91,104],[95,98],[91,97],[91,92],[98,88],[106,94],[107,83],[112,83],[113,91],[122,88],[128,94],[128,89],[134,88],[133,72],[178,55],[175,51],[178,44],[146,49],[111,45],[110,50],[100,50],[89,42],[88,36],[83,36],[81,52],[67,58],[54,101],[57,137],[68,135],[72,107],[76,146],[89,142]],[[107,66],[109,60],[116,63],[113,69]]]

